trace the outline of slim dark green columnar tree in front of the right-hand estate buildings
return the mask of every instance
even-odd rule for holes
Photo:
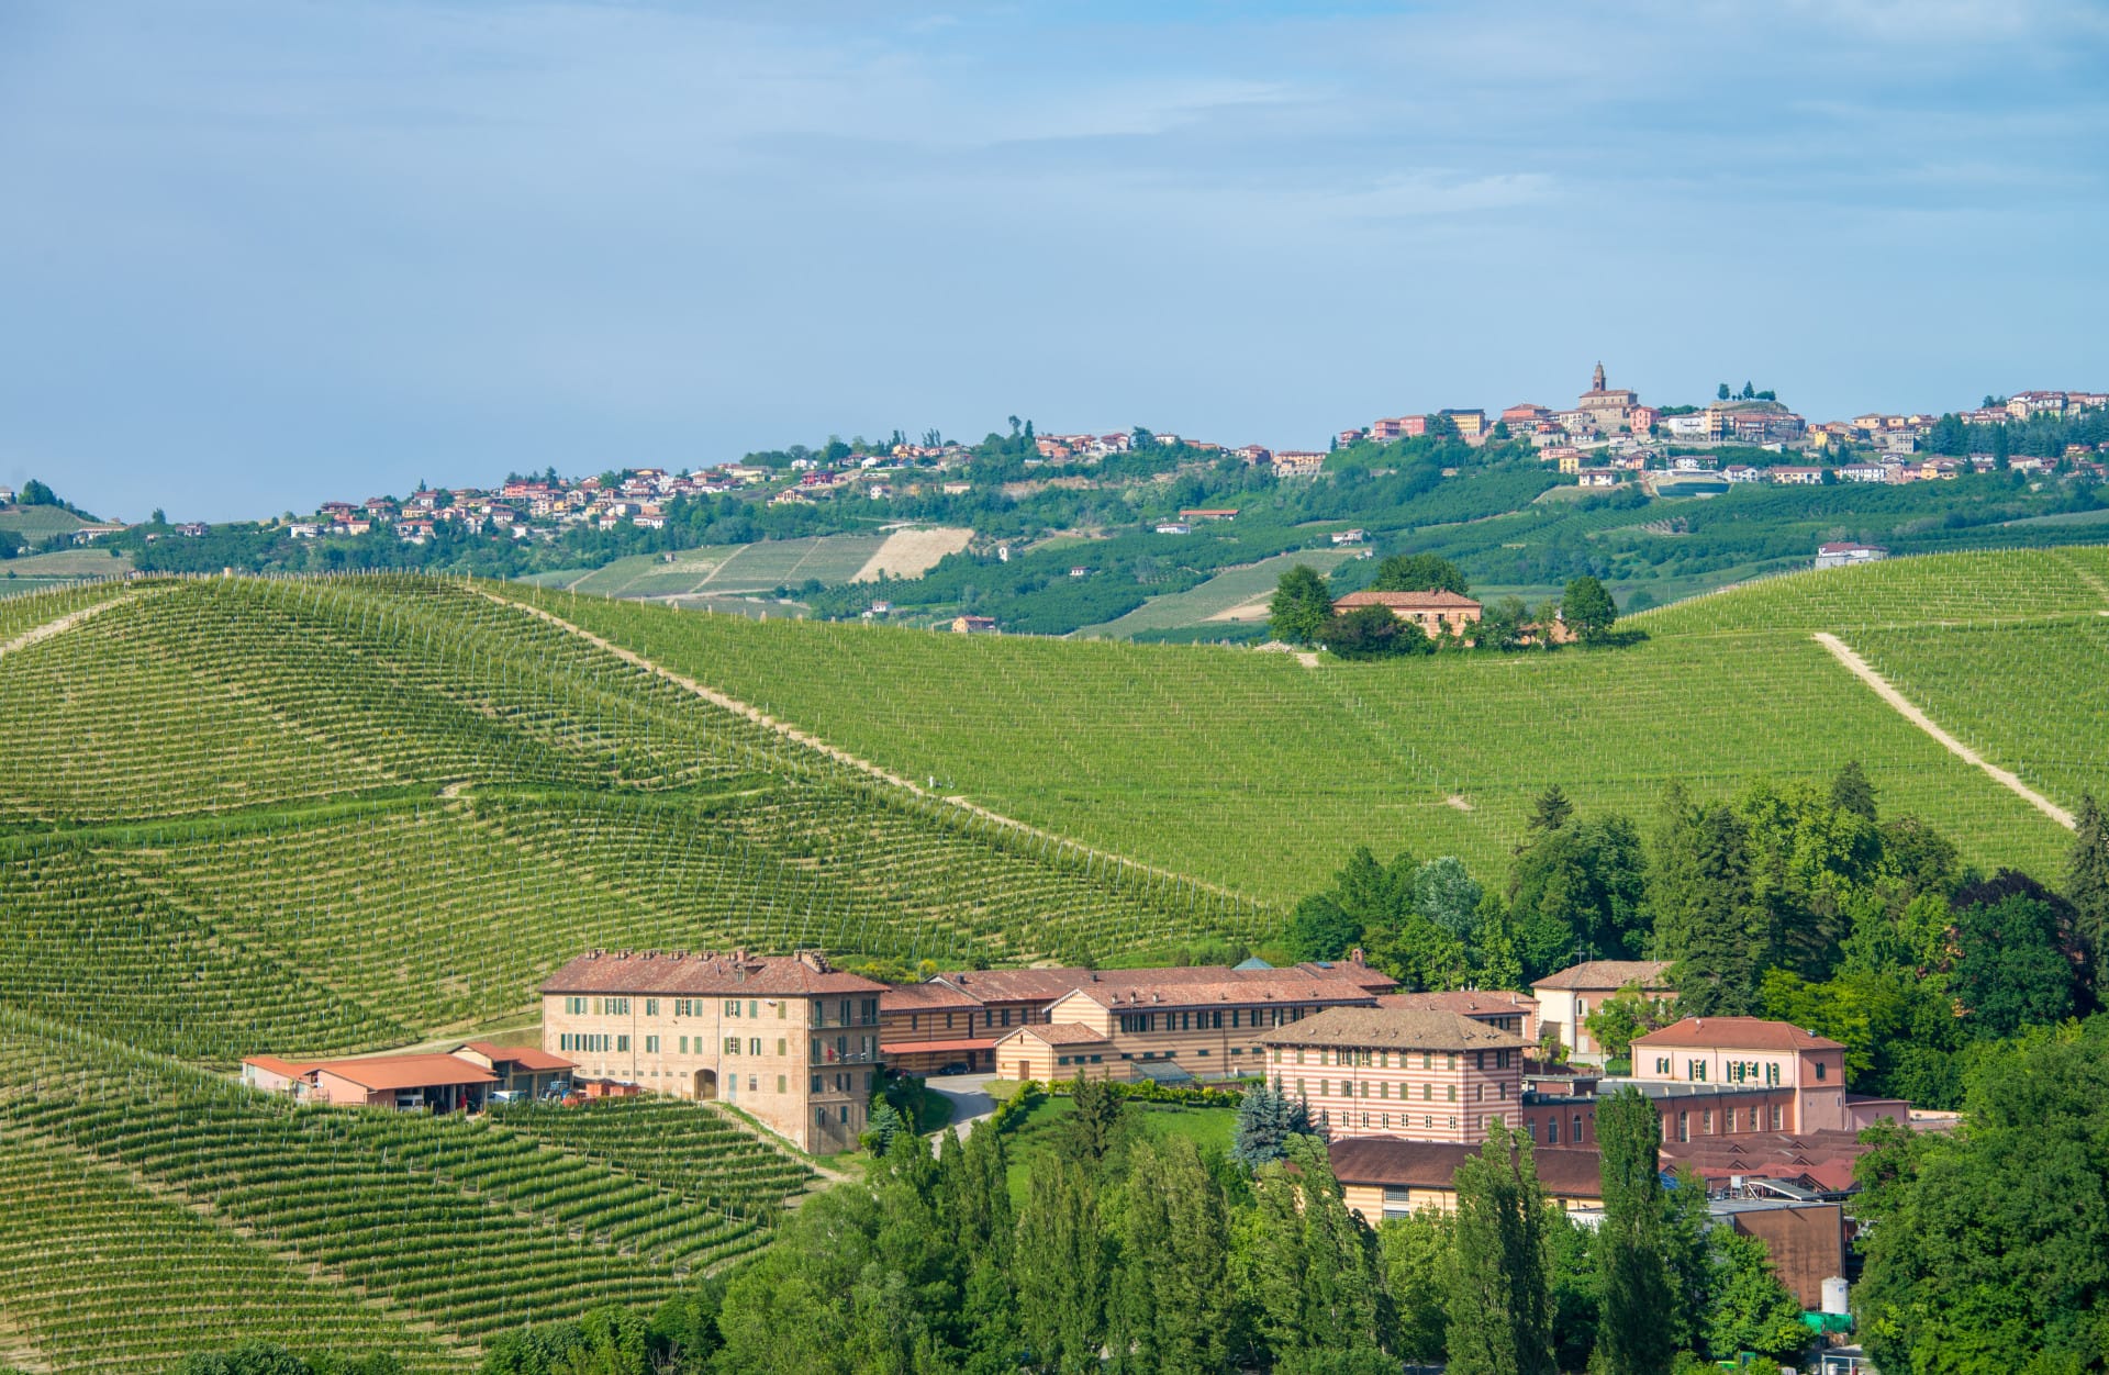
[[[1603,1225],[1597,1229],[1599,1375],[1658,1375],[1677,1356],[1662,1265],[1662,1113],[1637,1088],[1597,1103]]]

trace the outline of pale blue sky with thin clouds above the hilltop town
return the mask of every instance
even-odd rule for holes
[[[0,0],[0,481],[2109,388],[2109,6]]]

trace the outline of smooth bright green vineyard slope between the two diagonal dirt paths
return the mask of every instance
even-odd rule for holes
[[[1459,854],[1497,875],[1550,782],[1584,810],[1645,812],[1670,778],[1725,791],[1757,774],[1829,778],[1845,759],[1869,768],[1888,808],[1930,818],[1974,860],[2048,873],[2063,833],[1902,721],[1810,633],[2105,607],[2109,563],[2082,548],[1774,578],[1641,616],[1653,639],[1622,652],[1318,669],[1244,650],[747,624],[586,599],[565,614],[943,791],[1286,903],[1356,844]]]

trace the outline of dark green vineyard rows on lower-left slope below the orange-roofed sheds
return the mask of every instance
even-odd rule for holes
[[[6,1177],[36,1179],[36,1160],[105,1198],[143,1189],[194,1208],[219,1236],[175,1244],[226,1255],[238,1234],[253,1242],[240,1265],[268,1261],[266,1289],[312,1282],[310,1305],[363,1295],[396,1324],[430,1322],[456,1343],[599,1301],[666,1297],[694,1267],[761,1244],[776,1200],[810,1177],[694,1103],[597,1111],[597,1149],[574,1151],[494,1120],[293,1107],[17,1012],[0,1012],[0,1059]],[[696,1158],[664,1162],[669,1141],[698,1147]],[[32,1234],[63,1229],[70,1198],[23,1202]],[[146,1339],[181,1297],[105,1320]],[[34,1322],[27,1337],[70,1354]],[[415,1348],[407,1333],[396,1339]]]

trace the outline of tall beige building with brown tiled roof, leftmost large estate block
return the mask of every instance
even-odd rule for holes
[[[542,1048],[586,1076],[736,1103],[831,1154],[865,1130],[882,993],[818,951],[591,951],[542,985]]]

